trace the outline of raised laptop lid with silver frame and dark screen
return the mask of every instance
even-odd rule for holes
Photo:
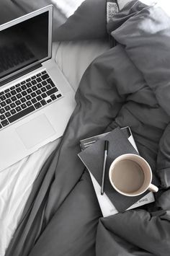
[[[52,56],[53,5],[0,26],[0,87]]]

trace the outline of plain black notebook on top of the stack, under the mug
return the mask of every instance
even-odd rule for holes
[[[140,198],[143,198],[143,196],[149,193],[149,191],[146,191],[138,196],[128,197],[117,193],[109,182],[109,166],[112,164],[112,161],[117,158],[117,156],[122,154],[138,154],[138,152],[135,151],[133,146],[130,144],[130,141],[128,141],[125,133],[121,131],[120,128],[116,128],[106,136],[102,137],[99,141],[91,144],[91,146],[79,153],[81,161],[84,162],[84,165],[87,169],[89,169],[89,172],[91,172],[99,185],[102,184],[104,140],[106,139],[109,141],[109,150],[105,172],[104,193],[107,194],[115,208],[117,208],[117,211],[122,212],[132,206]]]

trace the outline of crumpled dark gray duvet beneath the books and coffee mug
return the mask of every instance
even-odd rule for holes
[[[132,1],[108,30],[117,46],[86,69],[76,109],[35,181],[6,256],[170,254],[170,17],[157,5]],[[159,192],[155,203],[102,218],[77,156],[79,140],[126,125]]]

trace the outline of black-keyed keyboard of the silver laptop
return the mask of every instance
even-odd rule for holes
[[[46,71],[0,92],[0,129],[62,97]]]

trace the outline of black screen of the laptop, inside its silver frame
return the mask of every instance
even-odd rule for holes
[[[48,57],[48,15],[0,31],[0,79]]]

